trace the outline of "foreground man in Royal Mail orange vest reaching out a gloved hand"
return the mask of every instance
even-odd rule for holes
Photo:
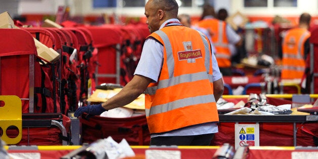
[[[204,34],[181,25],[175,0],[149,0],[147,37],[133,79],[115,96],[79,107],[99,115],[145,93],[150,145],[209,145],[218,132],[216,101],[222,78],[214,78],[211,45]],[[177,38],[176,38],[177,37]]]

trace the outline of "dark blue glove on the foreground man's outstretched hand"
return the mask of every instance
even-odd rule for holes
[[[107,111],[107,110],[102,107],[102,104],[94,104],[94,105],[79,107],[74,112],[74,116],[75,117],[81,116],[83,112],[86,112],[90,115],[100,115],[104,111]]]

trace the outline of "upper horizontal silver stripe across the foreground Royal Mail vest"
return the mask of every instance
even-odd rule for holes
[[[188,83],[199,81],[203,79],[209,79],[210,83],[213,82],[212,74],[207,74],[207,72],[197,72],[192,74],[182,74],[179,76],[172,77],[170,79],[164,79],[159,81],[158,86],[147,87],[145,94],[154,95],[157,89],[167,88],[175,86],[181,83]]]

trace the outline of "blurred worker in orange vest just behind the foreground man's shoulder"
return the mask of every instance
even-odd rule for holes
[[[222,75],[232,75],[231,52],[228,44],[242,45],[242,38],[224,21],[216,19],[214,8],[204,5],[201,20],[197,23],[199,27],[209,30],[212,42],[216,49],[216,59]]]

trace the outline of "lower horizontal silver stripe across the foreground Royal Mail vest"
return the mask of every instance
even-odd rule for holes
[[[163,113],[163,112],[167,112],[170,110],[178,109],[178,108],[189,106],[189,105],[204,104],[204,103],[210,103],[210,102],[215,102],[213,95],[196,96],[191,98],[179,99],[167,104],[152,106],[150,108],[151,114],[150,114],[150,109],[145,109],[145,111],[146,111],[146,116],[150,116],[153,114]]]

